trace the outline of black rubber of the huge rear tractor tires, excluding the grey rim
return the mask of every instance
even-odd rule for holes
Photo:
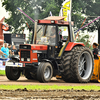
[[[86,83],[89,82],[93,73],[91,72],[90,77],[87,80],[81,80],[78,74],[77,66],[78,66],[78,57],[79,54],[83,50],[88,50],[90,53],[91,51],[87,47],[77,46],[72,49],[70,52],[65,52],[62,58],[62,64],[64,67],[64,72],[62,73],[62,78],[65,82],[82,82]],[[92,53],[91,53],[92,55]],[[93,55],[92,55],[93,58]]]

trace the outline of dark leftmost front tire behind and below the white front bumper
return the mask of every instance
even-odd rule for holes
[[[9,62],[15,62],[14,60],[9,60]],[[5,68],[6,76],[9,80],[18,80],[21,74],[21,71],[18,67],[6,66]]]

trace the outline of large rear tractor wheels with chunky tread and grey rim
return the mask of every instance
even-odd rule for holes
[[[87,47],[77,46],[62,57],[62,79],[65,82],[87,83],[93,74],[94,59],[91,50]]]

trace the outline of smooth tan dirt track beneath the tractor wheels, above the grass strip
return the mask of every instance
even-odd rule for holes
[[[80,85],[97,85],[100,83],[66,83],[63,80],[52,78],[49,83],[40,83],[37,80],[27,80],[25,77],[20,77],[17,81],[10,81],[6,76],[0,76],[0,84],[19,84],[19,85],[62,85],[62,86],[80,86]]]

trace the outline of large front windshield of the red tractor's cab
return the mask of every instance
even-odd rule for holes
[[[55,45],[56,26],[37,25],[36,44]]]

